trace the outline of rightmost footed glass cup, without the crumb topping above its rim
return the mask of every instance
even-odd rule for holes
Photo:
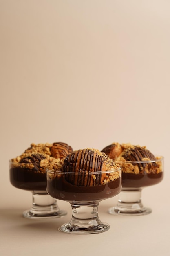
[[[144,207],[141,200],[142,189],[147,186],[158,184],[163,179],[163,157],[148,161],[126,161],[126,164],[138,165],[141,168],[160,168],[157,173],[125,173],[125,162],[119,162],[122,166],[122,191],[119,193],[118,202],[115,207],[108,209],[110,214],[119,215],[146,215],[152,212],[152,209]]]

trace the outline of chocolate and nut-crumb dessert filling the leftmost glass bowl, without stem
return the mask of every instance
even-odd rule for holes
[[[53,157],[54,151],[57,158]],[[19,189],[46,191],[46,166],[59,162],[71,151],[68,144],[61,142],[31,144],[22,155],[10,160],[11,184]]]

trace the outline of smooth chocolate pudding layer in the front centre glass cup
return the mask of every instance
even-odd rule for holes
[[[47,179],[47,192],[53,198],[66,201],[103,200],[113,197],[121,191],[121,178],[97,186],[75,186],[67,182],[64,176]]]

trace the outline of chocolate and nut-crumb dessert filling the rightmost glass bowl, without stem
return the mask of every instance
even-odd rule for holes
[[[151,186],[163,179],[162,157],[153,155],[146,146],[113,143],[102,152],[122,166],[123,188]]]

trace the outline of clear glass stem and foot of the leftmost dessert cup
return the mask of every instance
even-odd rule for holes
[[[52,198],[46,191],[33,191],[33,203],[30,210],[23,213],[25,218],[48,218],[61,217],[66,215],[66,211],[60,210],[57,200]]]

